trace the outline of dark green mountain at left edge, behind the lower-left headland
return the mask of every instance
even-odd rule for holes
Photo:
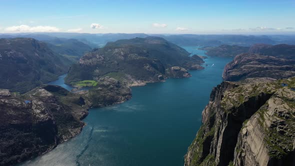
[[[0,88],[25,92],[67,72],[72,62],[33,38],[0,39]]]

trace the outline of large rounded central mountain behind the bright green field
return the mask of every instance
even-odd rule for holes
[[[203,62],[199,56],[189,54],[160,37],[117,40],[82,56],[78,64],[71,66],[65,80],[72,83],[111,76],[132,84],[159,81],[172,75],[187,76],[184,68],[201,69],[199,64]]]

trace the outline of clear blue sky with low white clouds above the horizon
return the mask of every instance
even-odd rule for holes
[[[295,31],[295,0],[1,0],[0,13],[0,32]]]

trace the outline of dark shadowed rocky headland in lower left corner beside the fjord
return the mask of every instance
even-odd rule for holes
[[[0,165],[40,155],[77,135],[90,103],[60,86],[23,95],[0,89]]]

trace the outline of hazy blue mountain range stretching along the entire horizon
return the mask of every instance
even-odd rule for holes
[[[145,33],[68,33],[68,32],[39,32],[39,33],[6,33],[6,37],[32,37],[38,40],[58,38],[74,38],[90,45],[92,48],[104,45],[118,39],[131,39],[146,36],[162,37],[177,45],[183,46],[218,46],[222,44],[250,46],[256,43],[265,44],[295,44],[295,35],[231,35],[231,34],[145,34]]]

